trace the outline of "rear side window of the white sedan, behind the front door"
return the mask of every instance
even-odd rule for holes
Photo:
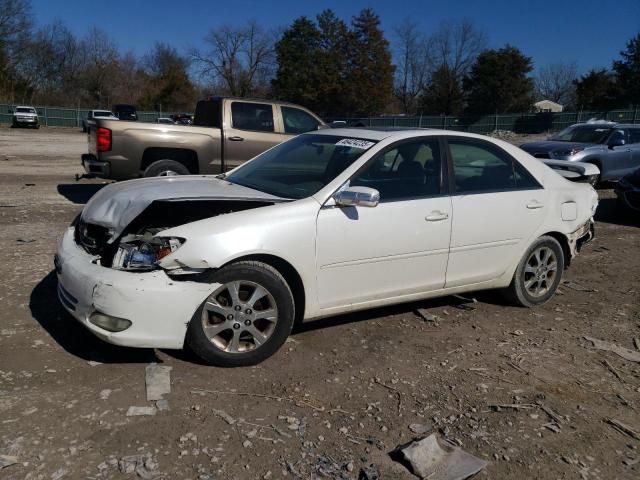
[[[449,140],[456,193],[540,188],[533,176],[498,147]]]

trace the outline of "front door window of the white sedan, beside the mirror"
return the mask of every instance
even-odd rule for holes
[[[402,143],[373,158],[350,185],[375,188],[381,202],[439,195],[440,165],[437,139]]]

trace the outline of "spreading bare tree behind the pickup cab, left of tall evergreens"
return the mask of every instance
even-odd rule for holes
[[[191,57],[207,83],[222,84],[238,97],[268,85],[274,67],[274,36],[256,22],[211,30],[204,40],[207,48],[192,49]]]

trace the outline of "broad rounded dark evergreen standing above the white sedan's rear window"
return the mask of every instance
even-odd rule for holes
[[[531,58],[506,45],[485,50],[471,67],[463,86],[472,113],[526,112],[533,104]]]

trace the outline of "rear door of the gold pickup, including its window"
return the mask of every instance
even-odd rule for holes
[[[270,103],[231,100],[225,105],[224,162],[226,170],[252,159],[283,141],[276,133]]]

